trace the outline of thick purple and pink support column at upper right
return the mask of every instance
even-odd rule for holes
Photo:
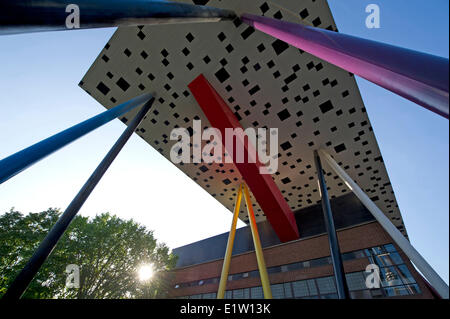
[[[251,14],[242,21],[448,119],[449,60]]]

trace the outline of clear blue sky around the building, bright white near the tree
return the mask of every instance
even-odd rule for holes
[[[365,26],[369,3],[381,9],[380,29]],[[329,4],[340,32],[448,58],[448,0]],[[77,84],[113,32],[0,37],[0,158],[104,110]],[[365,80],[358,84],[411,242],[448,282],[448,121]],[[0,185],[0,212],[65,209],[124,127],[111,122]],[[232,217],[137,136],[81,214],[106,211],[146,225],[172,248],[228,231]]]

